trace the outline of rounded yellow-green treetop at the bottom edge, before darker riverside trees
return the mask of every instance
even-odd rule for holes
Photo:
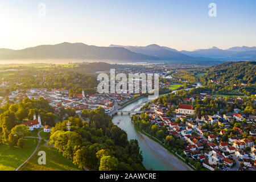
[[[99,171],[115,171],[117,170],[118,160],[115,157],[104,155],[101,157]]]

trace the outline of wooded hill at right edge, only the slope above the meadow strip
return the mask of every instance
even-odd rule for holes
[[[256,61],[227,62],[211,67],[206,77],[220,83],[228,81],[232,85],[245,83],[251,86],[255,85],[255,70]]]

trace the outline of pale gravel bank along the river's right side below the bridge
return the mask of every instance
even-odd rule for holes
[[[181,159],[181,157],[175,154],[173,151],[168,150],[168,148],[164,146],[164,144],[158,139],[140,130],[135,125],[134,128],[142,135],[144,142],[152,150],[152,152],[154,152],[160,158],[163,158],[176,171],[194,170],[194,167],[192,167],[190,164],[187,164],[185,160]]]

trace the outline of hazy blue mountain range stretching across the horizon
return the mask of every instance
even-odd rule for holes
[[[20,50],[0,48],[0,60],[106,60],[127,63],[137,61],[238,61],[256,60],[256,47],[232,47],[219,49],[196,49],[177,51],[176,49],[151,44],[142,46],[109,47],[88,46],[84,43],[60,43],[42,45]]]

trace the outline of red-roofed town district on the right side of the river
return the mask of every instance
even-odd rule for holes
[[[223,115],[217,112],[199,118],[196,117],[193,105],[188,104],[193,103],[196,98],[223,100],[223,97],[212,97],[207,93],[194,94],[184,98],[177,106],[171,102],[166,106],[157,101],[152,102],[144,110],[144,114],[148,115],[148,121],[152,125],[166,127],[169,135],[183,140],[184,154],[188,158],[199,160],[203,167],[211,171],[255,170],[256,116],[246,117],[238,114],[240,109],[234,109]],[[230,97],[225,102],[234,104],[235,100],[244,103],[241,97]]]

